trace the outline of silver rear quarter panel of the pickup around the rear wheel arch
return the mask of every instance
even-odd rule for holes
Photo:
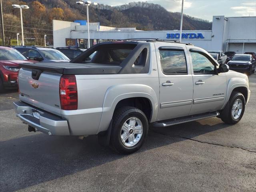
[[[72,135],[98,134],[107,130],[116,104],[125,98],[148,98],[153,106],[152,121],[156,118],[159,78],[154,46],[151,46],[151,53],[148,74],[76,75],[78,110],[62,110]]]

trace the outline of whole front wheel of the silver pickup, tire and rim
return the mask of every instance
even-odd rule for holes
[[[220,118],[227,124],[236,124],[244,115],[245,99],[242,93],[232,92],[228,104],[220,113]]]

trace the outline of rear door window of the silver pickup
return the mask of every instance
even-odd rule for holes
[[[183,50],[160,50],[160,62],[164,74],[187,74]]]

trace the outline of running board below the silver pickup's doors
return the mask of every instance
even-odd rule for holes
[[[210,117],[216,117],[218,115],[220,115],[220,113],[217,111],[210,112],[210,113],[197,114],[197,115],[190,115],[190,116],[174,118],[174,119],[170,119],[170,120],[166,120],[166,121],[156,122],[152,126],[157,127],[157,128],[163,128],[163,127],[186,123],[186,122],[190,122],[190,121],[195,121],[195,120],[200,120],[200,119],[205,119],[205,118],[210,118]]]

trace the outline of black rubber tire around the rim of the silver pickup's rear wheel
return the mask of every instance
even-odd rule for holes
[[[123,124],[131,117],[138,118],[142,122],[143,132],[140,137],[140,140],[134,146],[125,146],[121,141],[121,136],[120,136],[121,129]],[[130,106],[125,106],[117,109],[114,112],[112,131],[110,136],[110,146],[116,152],[119,152],[121,154],[130,154],[130,153],[136,152],[138,149],[140,149],[140,147],[144,143],[144,140],[147,134],[148,134],[148,119],[144,114],[144,112],[142,112],[140,109],[130,107]],[[136,138],[136,134],[134,135]]]

